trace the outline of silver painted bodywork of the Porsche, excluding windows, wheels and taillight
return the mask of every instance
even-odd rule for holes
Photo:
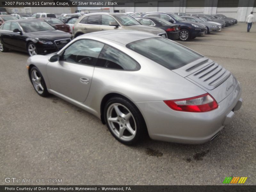
[[[204,63],[190,71],[186,69],[198,63],[198,60],[182,68],[169,70],[126,47],[126,44],[133,41],[152,37],[162,38],[150,33],[122,30],[90,33],[79,36],[69,43],[72,44],[78,39],[92,39],[113,46],[136,60],[140,64],[138,71],[91,66],[89,69],[88,66],[84,68],[61,61],[51,63],[48,59],[52,54],[32,56],[28,59],[27,66],[32,64],[40,70],[50,93],[87,110],[98,118],[101,118],[102,99],[110,93],[116,93],[128,98],[138,107],[152,139],[181,143],[202,143],[211,140],[223,128],[224,122],[231,121],[233,115],[230,115],[230,111],[241,107],[240,84],[230,74],[226,81],[209,90],[202,82],[192,80],[190,75],[207,67],[211,60],[200,59],[201,62],[205,60]],[[89,76],[90,84],[81,84],[81,76]],[[234,85],[230,87],[228,82],[232,81]],[[209,112],[174,111],[164,103],[164,100],[190,98],[207,92],[219,104],[217,109]],[[228,119],[225,121],[226,118]]]

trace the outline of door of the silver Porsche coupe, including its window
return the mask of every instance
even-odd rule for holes
[[[90,90],[95,63],[104,44],[77,40],[60,54],[60,60],[47,64],[51,89],[78,102],[84,102]]]

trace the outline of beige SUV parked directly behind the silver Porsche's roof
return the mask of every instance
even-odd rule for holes
[[[124,13],[90,13],[76,21],[73,36],[104,30],[137,30],[167,37],[163,29],[141,25],[138,21]]]

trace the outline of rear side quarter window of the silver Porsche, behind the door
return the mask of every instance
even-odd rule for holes
[[[108,45],[105,45],[102,49],[96,66],[128,71],[140,69],[139,63],[123,52]]]

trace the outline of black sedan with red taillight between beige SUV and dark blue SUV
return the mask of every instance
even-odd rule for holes
[[[167,33],[168,39],[176,40],[180,38],[179,25],[172,24],[164,19],[156,17],[136,18],[136,20],[139,21],[142,25],[164,29]]]

